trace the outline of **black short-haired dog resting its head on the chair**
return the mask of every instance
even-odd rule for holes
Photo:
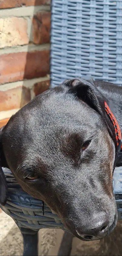
[[[1,129],[1,166],[43,200],[82,240],[107,236],[117,223],[112,189],[114,126],[122,128],[122,87],[73,79],[31,100]],[[0,201],[7,185],[0,167]]]

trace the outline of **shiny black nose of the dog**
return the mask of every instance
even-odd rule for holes
[[[76,232],[84,239],[92,240],[94,237],[102,238],[109,228],[109,218],[105,213],[97,214],[86,222],[85,225],[76,228]]]

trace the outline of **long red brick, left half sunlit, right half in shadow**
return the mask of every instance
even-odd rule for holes
[[[0,56],[0,83],[49,74],[49,50],[18,52]]]

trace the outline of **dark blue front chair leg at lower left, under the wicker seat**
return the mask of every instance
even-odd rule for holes
[[[38,256],[38,231],[20,228],[23,236],[23,256]]]

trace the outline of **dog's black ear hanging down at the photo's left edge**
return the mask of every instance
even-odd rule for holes
[[[8,194],[8,186],[7,186],[4,172],[2,170],[2,167],[7,167],[7,164],[5,163],[5,156],[2,150],[2,142],[1,142],[1,135],[2,135],[3,128],[4,127],[0,129],[0,203],[1,205],[6,204],[7,194]]]

